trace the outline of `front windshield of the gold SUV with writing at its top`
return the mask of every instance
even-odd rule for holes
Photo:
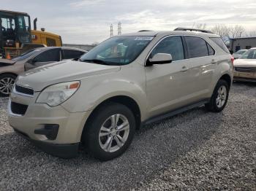
[[[116,36],[102,42],[80,61],[106,65],[124,65],[135,61],[154,36]]]

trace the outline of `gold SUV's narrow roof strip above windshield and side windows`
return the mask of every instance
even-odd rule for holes
[[[195,36],[220,37],[217,34],[193,32],[193,31],[138,31],[135,33],[122,34],[121,36],[167,36],[167,35],[195,35]]]

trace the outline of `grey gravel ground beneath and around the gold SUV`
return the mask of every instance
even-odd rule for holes
[[[6,107],[0,98],[0,190],[256,190],[256,85],[235,83],[222,113],[147,125],[105,163],[45,154],[13,133]]]

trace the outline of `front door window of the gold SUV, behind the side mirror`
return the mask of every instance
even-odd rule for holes
[[[157,53],[170,54],[173,57],[173,61],[184,59],[184,49],[181,36],[170,36],[163,39],[151,52],[151,58]]]

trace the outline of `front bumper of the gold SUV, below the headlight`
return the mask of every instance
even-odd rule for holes
[[[51,155],[59,157],[75,156],[78,152],[83,127],[89,112],[68,112],[64,107],[50,107],[47,104],[36,104],[37,95],[27,97],[12,93],[8,104],[9,123],[18,133],[34,142],[38,147]],[[12,113],[11,101],[27,105],[26,113]],[[56,136],[45,136],[38,132],[50,125],[57,125]],[[67,156],[66,156],[67,155]]]

